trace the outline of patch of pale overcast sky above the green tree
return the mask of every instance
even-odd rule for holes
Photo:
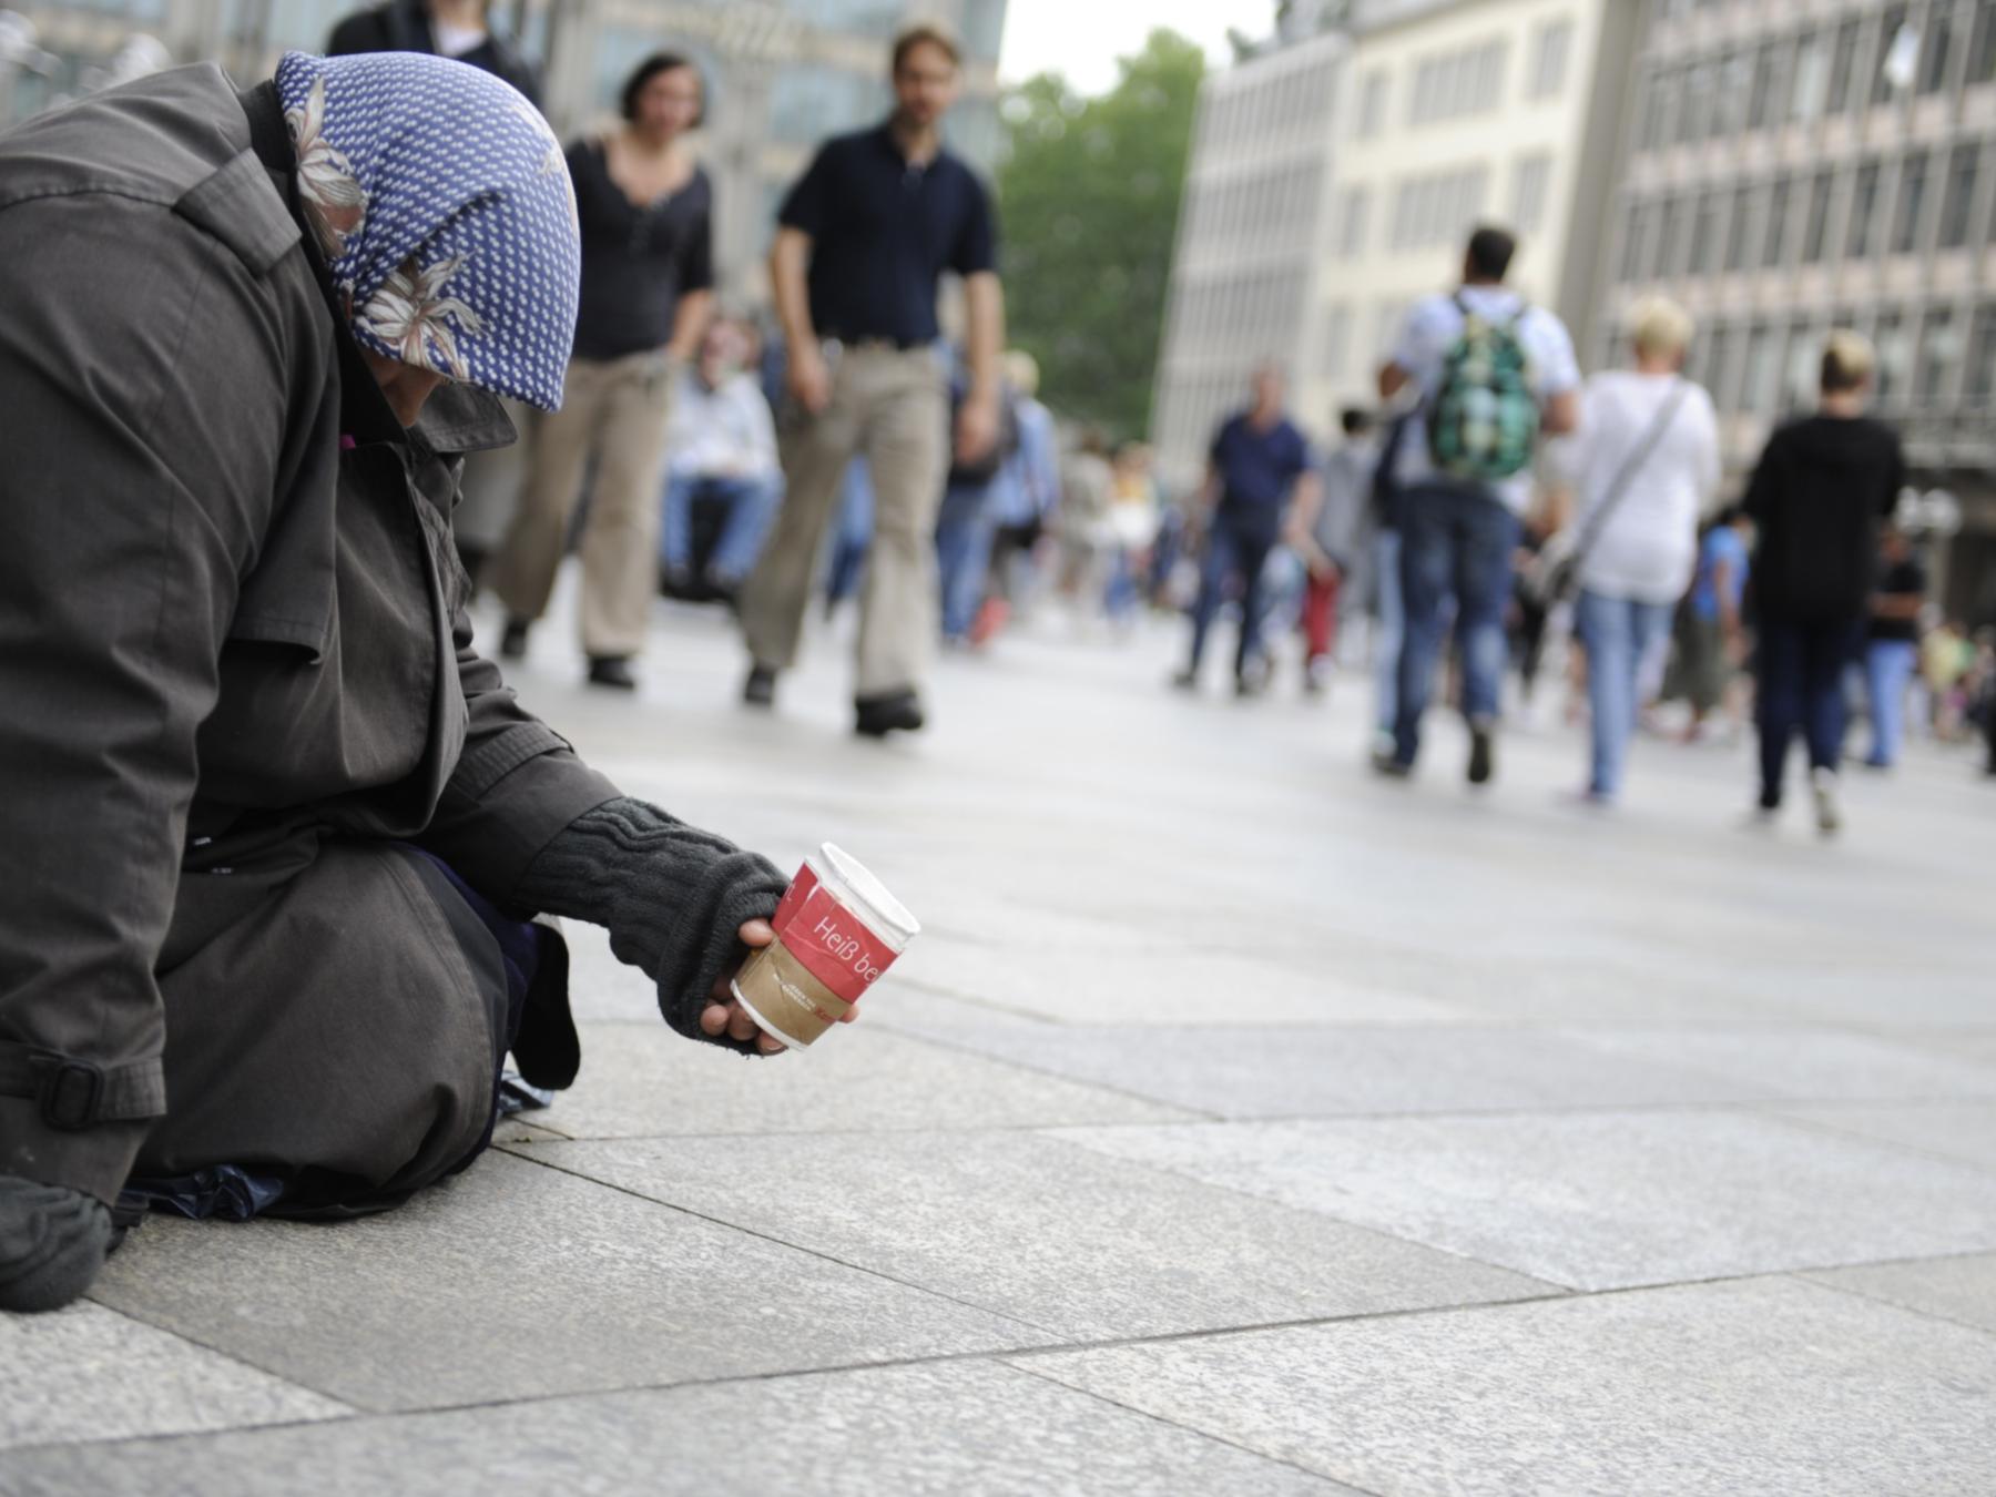
[[[1116,84],[1116,58],[1138,52],[1154,26],[1168,26],[1224,64],[1228,26],[1265,36],[1275,0],[1010,0],[998,76],[1016,84],[1036,72],[1064,72],[1080,94]]]

